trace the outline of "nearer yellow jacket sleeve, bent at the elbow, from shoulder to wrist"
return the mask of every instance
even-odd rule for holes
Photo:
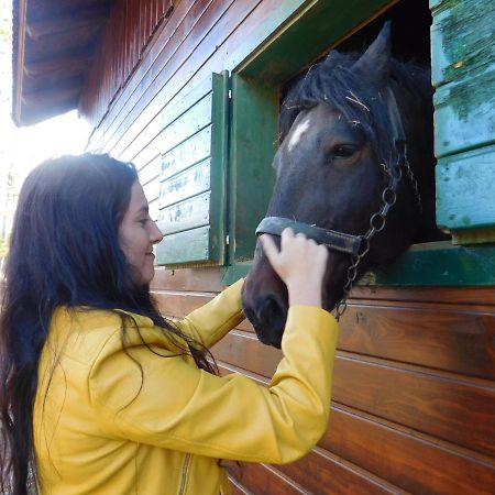
[[[90,399],[112,437],[221,459],[293,462],[326,430],[337,338],[329,312],[292,307],[284,358],[263,387],[241,374],[211,375],[185,356],[161,356],[144,345],[125,353],[116,334],[90,370]]]

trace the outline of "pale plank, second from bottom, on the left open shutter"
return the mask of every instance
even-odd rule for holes
[[[184,201],[176,202],[158,212],[158,228],[166,237],[175,232],[182,232],[210,222],[210,193],[195,196]],[[175,238],[174,238],[175,239]],[[165,238],[162,242],[165,242]],[[167,241],[167,242],[172,242]]]

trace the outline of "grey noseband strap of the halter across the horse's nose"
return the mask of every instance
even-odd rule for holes
[[[256,235],[262,233],[280,235],[282,231],[287,227],[293,229],[295,233],[304,233],[308,239],[312,239],[318,244],[323,244],[331,250],[352,255],[356,255],[360,251],[361,238],[358,235],[327,230],[282,217],[264,218],[257,226]]]

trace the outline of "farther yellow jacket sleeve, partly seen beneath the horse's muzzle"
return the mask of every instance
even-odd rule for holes
[[[174,324],[208,349],[211,348],[245,318],[241,302],[243,285],[242,278]]]

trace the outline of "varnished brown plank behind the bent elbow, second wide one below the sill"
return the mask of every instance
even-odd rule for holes
[[[276,350],[239,331],[219,342],[215,355],[263,376],[272,376],[280,359]],[[493,382],[338,352],[333,398],[486,455],[495,454]]]

